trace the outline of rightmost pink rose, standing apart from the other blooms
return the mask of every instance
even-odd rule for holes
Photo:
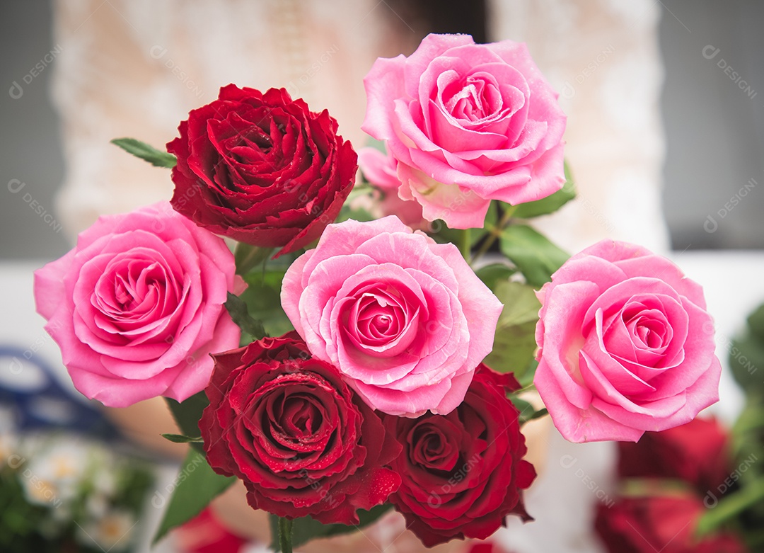
[[[537,293],[533,382],[570,441],[637,441],[719,398],[714,323],[700,285],[641,246],[603,240]]]

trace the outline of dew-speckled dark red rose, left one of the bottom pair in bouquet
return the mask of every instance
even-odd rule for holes
[[[384,503],[400,452],[380,418],[292,332],[219,353],[202,430],[216,473],[247,487],[248,503],[293,519],[358,524]]]

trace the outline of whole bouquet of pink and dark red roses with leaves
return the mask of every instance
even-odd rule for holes
[[[238,479],[282,551],[390,508],[427,546],[484,539],[531,519],[525,421],[636,441],[717,400],[698,285],[623,242],[568,259],[529,225],[575,192],[523,44],[429,35],[364,84],[380,148],[359,155],[326,111],[232,84],[167,152],[116,140],[172,168],[172,199],[36,273],[76,387],[163,395],[192,446],[157,538]]]

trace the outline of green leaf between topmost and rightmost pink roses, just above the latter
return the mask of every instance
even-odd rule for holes
[[[545,236],[526,225],[511,225],[503,229],[499,244],[501,252],[523,273],[526,282],[536,288],[551,281],[552,273],[569,257]]]

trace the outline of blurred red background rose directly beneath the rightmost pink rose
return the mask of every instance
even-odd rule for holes
[[[714,419],[696,418],[662,432],[645,432],[636,444],[618,444],[621,478],[679,478],[704,495],[732,472],[727,431]]]

